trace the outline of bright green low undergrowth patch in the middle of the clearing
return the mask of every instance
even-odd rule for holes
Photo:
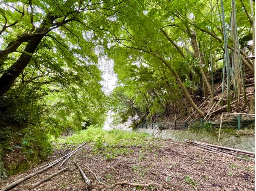
[[[84,142],[92,145],[93,153],[101,153],[107,160],[115,159],[119,155],[128,155],[133,150],[129,147],[148,145],[150,135],[124,130],[103,130],[97,125],[91,125],[86,130],[81,130],[73,136],[52,139],[55,148],[63,144],[80,145]]]

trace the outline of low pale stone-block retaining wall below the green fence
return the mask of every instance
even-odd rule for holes
[[[255,136],[233,136],[222,135],[220,142],[218,136],[207,132],[194,132],[190,130],[161,130],[158,129],[134,129],[137,132],[149,133],[162,139],[185,142],[186,139],[193,141],[205,141],[225,147],[237,148],[241,150],[255,152]],[[217,143],[218,142],[218,143]]]

